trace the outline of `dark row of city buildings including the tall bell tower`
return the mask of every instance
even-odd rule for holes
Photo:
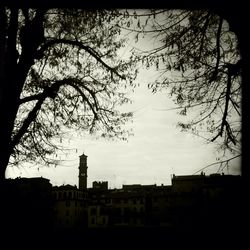
[[[54,186],[45,178],[6,180],[2,192],[5,224],[28,231],[96,228],[163,228],[170,231],[221,230],[238,225],[243,197],[241,176],[172,176],[172,185],[108,182],[87,188],[87,156],[80,156],[79,187]],[[230,220],[229,220],[230,218]],[[39,231],[38,230],[38,231]]]

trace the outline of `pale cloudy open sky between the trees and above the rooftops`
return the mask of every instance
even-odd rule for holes
[[[149,46],[152,41],[142,41],[137,47]],[[122,52],[126,56],[135,46],[128,43]],[[152,46],[152,44],[150,45]],[[152,94],[147,88],[149,80],[156,75],[154,70],[141,70],[137,78],[140,84],[130,98],[132,104],[122,107],[133,111],[133,123],[126,126],[133,129],[134,136],[128,141],[107,141],[85,135],[74,135],[64,141],[71,153],[61,157],[57,167],[9,167],[7,178],[44,177],[52,185],[78,185],[79,156],[88,156],[88,187],[93,181],[108,181],[109,188],[121,188],[123,184],[171,185],[171,176],[192,175],[214,163],[218,152],[215,144],[187,132],[181,132],[177,123],[183,117],[166,92]],[[168,111],[166,111],[168,109]],[[216,172],[218,165],[207,168],[205,173]],[[225,174],[240,174],[240,160],[233,162]]]

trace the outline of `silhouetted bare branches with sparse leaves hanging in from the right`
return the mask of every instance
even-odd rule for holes
[[[118,24],[135,41],[134,60],[158,72],[153,93],[167,90],[178,105],[184,131],[240,154],[242,62],[236,35],[210,10],[124,11]],[[192,112],[191,112],[192,111]]]

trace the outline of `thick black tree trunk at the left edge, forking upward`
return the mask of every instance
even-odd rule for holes
[[[18,9],[10,9],[10,20],[6,28],[5,9],[0,19],[0,181],[5,179],[5,170],[15,145],[12,133],[19,108],[20,95],[37,48],[42,42],[43,17],[45,10],[38,10],[31,22],[25,22],[22,53],[17,57]],[[4,34],[4,35],[2,35]],[[21,39],[21,38],[20,38]]]

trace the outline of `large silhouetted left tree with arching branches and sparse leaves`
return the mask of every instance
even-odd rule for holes
[[[122,88],[133,63],[119,59],[124,39],[116,10],[1,8],[0,165],[43,162],[68,131],[125,139],[131,113]]]

